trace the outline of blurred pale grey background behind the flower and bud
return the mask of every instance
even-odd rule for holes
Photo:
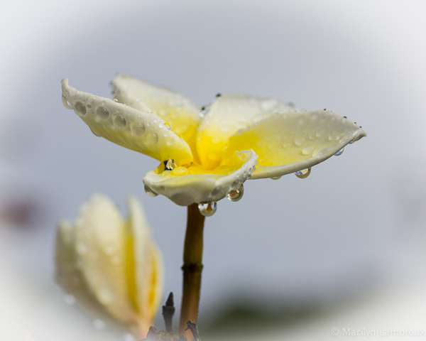
[[[116,73],[200,106],[241,92],[327,108],[368,134],[307,179],[247,181],[218,203],[203,341],[425,330],[425,15],[424,1],[1,1],[0,339],[121,340],[53,283],[56,223],[97,192],[124,214],[141,200],[180,305],[185,207],[144,193],[158,161],[95,137],[60,100],[64,77],[109,97]]]

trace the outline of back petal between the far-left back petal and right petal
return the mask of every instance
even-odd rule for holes
[[[217,97],[198,129],[197,152],[203,165],[219,166],[229,138],[239,129],[251,126],[277,112],[294,112],[295,107],[276,99],[246,94]],[[251,149],[251,147],[241,150]]]

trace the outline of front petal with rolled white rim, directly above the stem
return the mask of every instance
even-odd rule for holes
[[[149,171],[143,183],[146,190],[168,197],[181,206],[194,202],[215,202],[232,190],[238,190],[256,169],[256,153],[241,151],[226,166],[214,171],[192,173],[191,167],[178,167],[173,171]]]

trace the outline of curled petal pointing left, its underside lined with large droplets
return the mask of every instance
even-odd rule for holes
[[[62,80],[62,102],[70,106],[97,136],[159,161],[173,158],[177,164],[190,163],[190,146],[165,121],[151,112],[133,109],[111,99],[77,91]]]

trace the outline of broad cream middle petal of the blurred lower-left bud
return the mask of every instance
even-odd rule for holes
[[[89,292],[116,320],[136,323],[126,269],[126,224],[103,195],[93,195],[75,222],[75,251]]]

